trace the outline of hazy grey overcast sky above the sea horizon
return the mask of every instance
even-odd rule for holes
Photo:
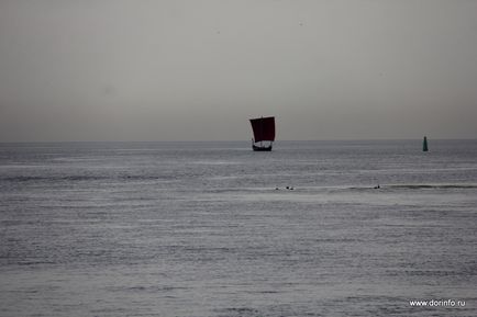
[[[0,0],[0,141],[477,138],[477,1]]]

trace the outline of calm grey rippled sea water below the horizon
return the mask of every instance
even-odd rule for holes
[[[477,141],[1,144],[0,239],[0,316],[477,316]]]

